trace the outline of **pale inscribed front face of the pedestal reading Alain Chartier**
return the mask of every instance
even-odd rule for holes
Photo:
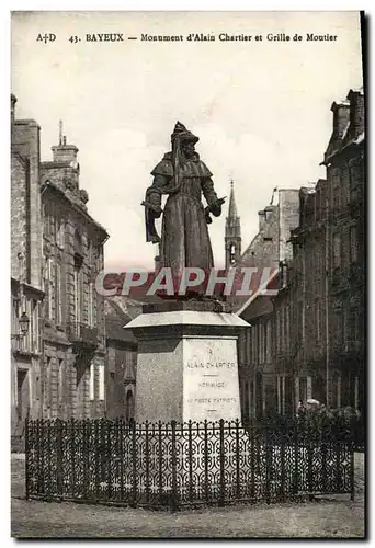
[[[240,418],[236,340],[184,341],[184,420]]]

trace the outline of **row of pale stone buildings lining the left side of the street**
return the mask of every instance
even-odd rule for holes
[[[26,416],[105,413],[104,301],[94,284],[107,233],[88,213],[77,147],[60,127],[53,160],[42,162],[39,127],[16,119],[15,102],[12,95],[11,362],[12,434],[20,435]]]

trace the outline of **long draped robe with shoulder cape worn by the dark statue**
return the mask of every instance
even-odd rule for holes
[[[174,281],[181,278],[186,266],[211,271],[214,259],[202,204],[203,194],[215,215],[217,195],[211,171],[198,155],[192,160],[182,161],[179,175],[181,184],[178,191],[170,192],[175,183],[172,155],[168,152],[151,174],[154,183],[147,190],[146,201],[160,207],[161,196],[169,194],[162,218],[160,267],[171,267]],[[160,213],[151,215],[159,217]]]

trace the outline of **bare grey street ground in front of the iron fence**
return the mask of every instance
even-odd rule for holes
[[[355,500],[170,512],[24,500],[24,460],[12,457],[11,534],[18,538],[251,538],[364,536],[364,458],[355,456]]]

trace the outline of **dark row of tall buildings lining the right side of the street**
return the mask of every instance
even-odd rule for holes
[[[255,294],[237,311],[252,326],[239,344],[245,418],[286,414],[309,398],[364,410],[363,92],[351,90],[331,110],[327,180],[298,191],[298,222],[272,274],[277,295]]]

